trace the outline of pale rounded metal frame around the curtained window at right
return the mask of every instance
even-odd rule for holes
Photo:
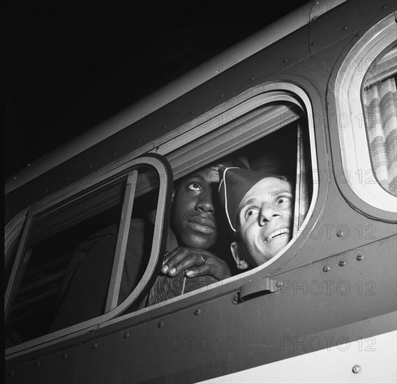
[[[392,222],[396,221],[396,197],[377,182],[373,173],[361,91],[368,69],[396,42],[396,15],[377,21],[347,47],[344,59],[338,60],[331,74],[327,93],[329,126],[336,126],[336,135],[331,131],[331,146],[340,190],[361,212]]]

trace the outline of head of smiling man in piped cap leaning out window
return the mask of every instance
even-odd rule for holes
[[[292,237],[293,191],[283,176],[221,168],[220,201],[236,241],[230,248],[239,269],[262,265]]]

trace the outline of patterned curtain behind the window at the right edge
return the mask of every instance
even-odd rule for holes
[[[386,191],[397,195],[397,45],[370,68],[362,93],[373,172]]]

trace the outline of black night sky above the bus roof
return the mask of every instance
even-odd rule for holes
[[[304,3],[3,1],[5,176]]]

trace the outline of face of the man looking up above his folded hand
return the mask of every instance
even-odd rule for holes
[[[180,246],[210,249],[218,239],[217,167],[184,177],[174,194],[172,223]]]

